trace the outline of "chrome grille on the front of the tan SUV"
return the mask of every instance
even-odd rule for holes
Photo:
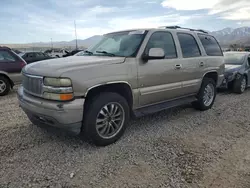
[[[23,74],[22,84],[26,92],[33,95],[42,95],[42,77]]]

